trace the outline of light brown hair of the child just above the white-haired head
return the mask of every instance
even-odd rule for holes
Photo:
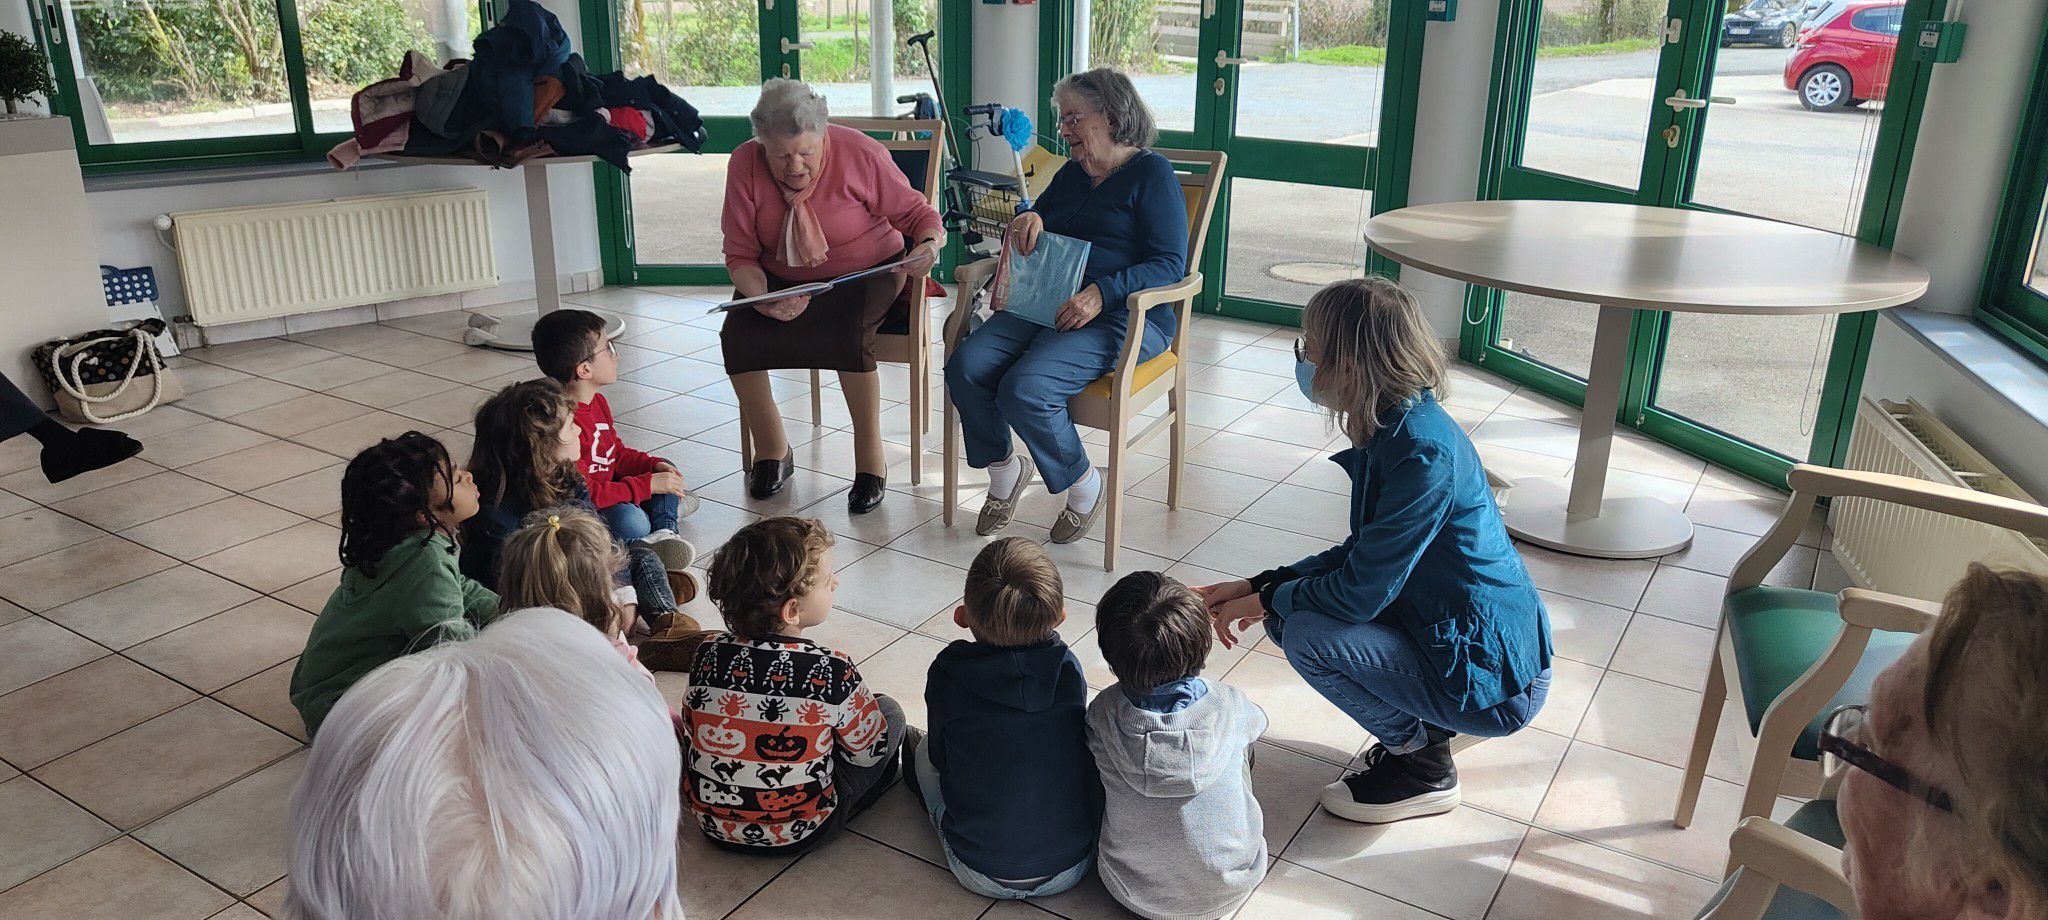
[[[625,551],[596,514],[537,510],[498,551],[498,609],[559,607],[614,635],[625,617],[612,602],[612,574],[625,563]]]

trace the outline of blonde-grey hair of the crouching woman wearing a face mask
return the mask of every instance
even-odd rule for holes
[[[1380,430],[1386,410],[1444,391],[1444,346],[1415,295],[1389,279],[1337,281],[1317,291],[1300,328],[1315,363],[1315,402],[1354,445]]]

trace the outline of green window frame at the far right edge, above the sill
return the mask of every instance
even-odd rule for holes
[[[2015,137],[2013,166],[2005,178],[2005,209],[1999,213],[1991,254],[1985,264],[1985,291],[1976,318],[2009,338],[2019,350],[2048,363],[2048,285],[2028,285],[2036,268],[2036,248],[2048,205],[2048,29],[2036,55],[2034,86]],[[2048,270],[2048,264],[2040,266]]]

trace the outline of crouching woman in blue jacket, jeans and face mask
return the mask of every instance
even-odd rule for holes
[[[1458,805],[1458,734],[1528,725],[1550,688],[1550,617],[1507,539],[1464,428],[1436,402],[1444,359],[1421,309],[1386,279],[1341,281],[1303,311],[1294,375],[1354,447],[1352,535],[1198,588],[1225,647],[1255,621],[1323,697],[1378,740],[1323,789],[1354,822]]]

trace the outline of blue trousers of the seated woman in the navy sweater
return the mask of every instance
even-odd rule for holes
[[[946,395],[961,410],[967,465],[983,469],[1010,457],[1010,432],[1038,461],[1047,492],[1067,492],[1087,475],[1087,451],[1067,416],[1067,400],[1116,367],[1128,313],[1102,313],[1059,332],[995,313],[946,357]],[[1139,361],[1151,361],[1167,336],[1145,330]]]

